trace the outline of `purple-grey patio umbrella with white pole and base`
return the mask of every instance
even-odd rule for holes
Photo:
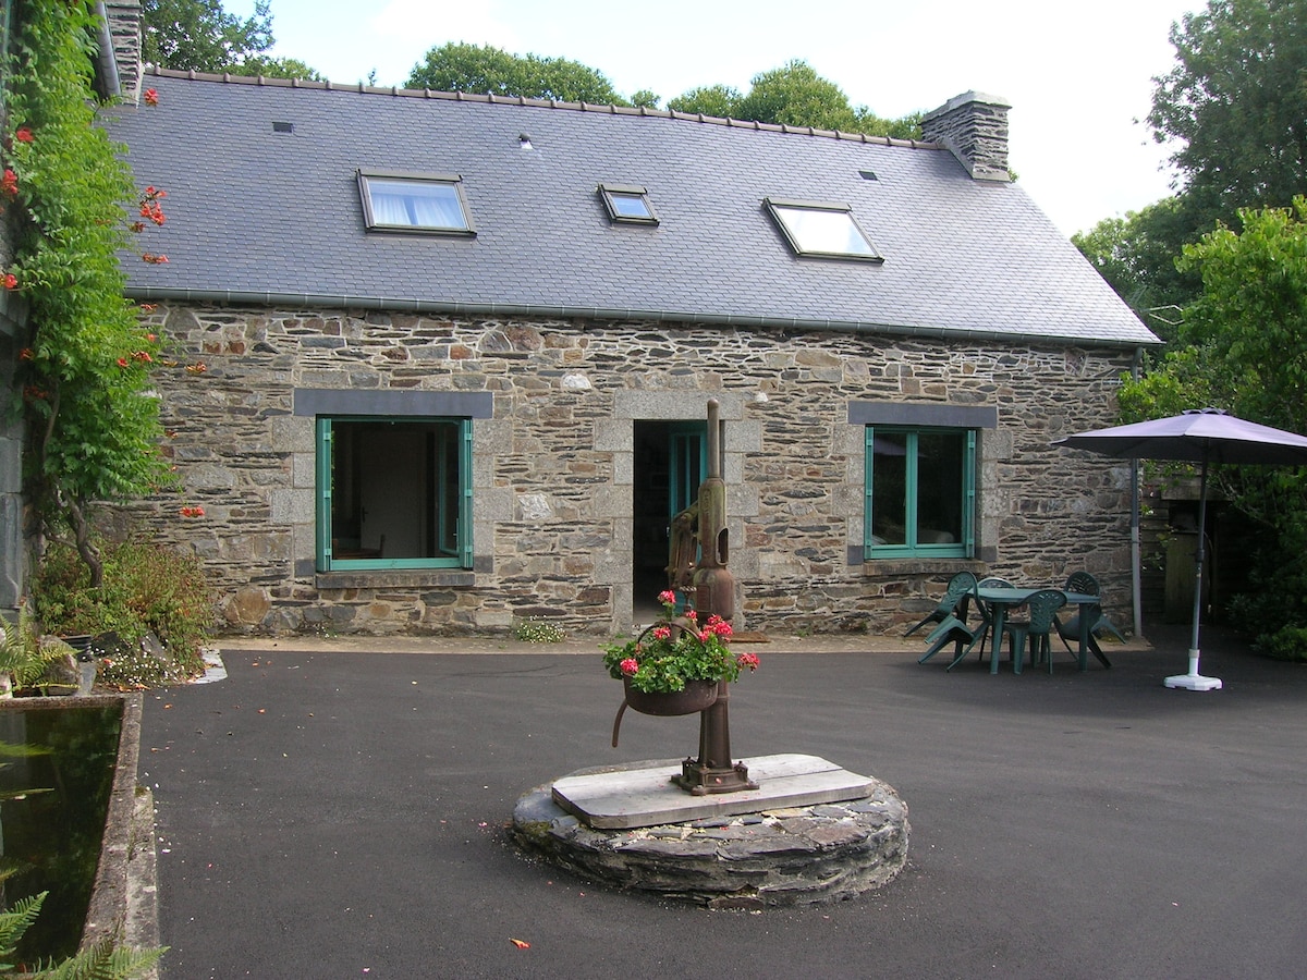
[[[1166,678],[1167,687],[1212,691],[1219,678],[1199,673],[1199,621],[1202,612],[1204,525],[1208,511],[1208,464],[1307,464],[1307,436],[1248,422],[1223,409],[1188,409],[1179,416],[1095,429],[1059,439],[1053,446],[1087,449],[1121,459],[1178,460],[1200,463],[1199,553],[1193,589],[1193,636],[1189,643],[1189,673]]]

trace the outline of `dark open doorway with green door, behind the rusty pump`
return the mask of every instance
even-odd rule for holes
[[[707,476],[707,423],[637,421],[634,434],[631,584],[635,622],[661,612],[672,517],[698,499]]]

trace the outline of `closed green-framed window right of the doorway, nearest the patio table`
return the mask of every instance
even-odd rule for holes
[[[864,557],[975,553],[976,433],[867,426]]]

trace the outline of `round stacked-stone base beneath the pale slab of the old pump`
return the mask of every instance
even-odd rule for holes
[[[907,862],[907,805],[868,783],[856,800],[627,830],[587,826],[545,784],[518,800],[512,832],[527,851],[620,889],[712,908],[821,904],[878,889]]]

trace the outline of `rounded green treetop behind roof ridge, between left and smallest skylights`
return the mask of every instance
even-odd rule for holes
[[[413,67],[405,85],[410,89],[468,91],[478,95],[629,105],[608,78],[579,61],[512,55],[489,44],[481,47],[451,42],[434,47],[426,52],[423,61]]]

